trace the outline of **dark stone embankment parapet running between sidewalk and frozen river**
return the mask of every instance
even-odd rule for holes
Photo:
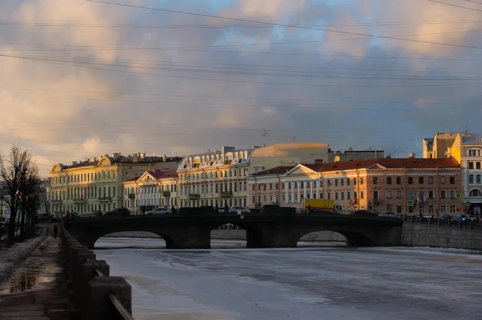
[[[132,288],[124,277],[110,276],[105,260],[81,245],[60,222],[62,248],[68,273],[67,288],[81,319],[125,319],[132,317]]]

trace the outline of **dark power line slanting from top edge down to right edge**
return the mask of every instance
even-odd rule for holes
[[[206,17],[206,18],[216,18],[216,19],[224,19],[224,20],[242,21],[242,22],[249,22],[249,23],[256,23],[256,24],[266,24],[266,25],[271,25],[271,26],[284,26],[284,27],[289,27],[289,28],[299,28],[299,29],[307,29],[307,30],[332,32],[332,33],[339,33],[339,34],[345,34],[345,35],[373,37],[373,38],[379,38],[379,39],[393,39],[393,40],[400,40],[400,41],[410,41],[410,42],[417,42],[417,43],[426,43],[426,44],[433,44],[433,45],[442,45],[442,46],[451,46],[451,47],[460,47],[460,48],[469,48],[469,49],[482,49],[482,47],[475,47],[475,46],[455,45],[455,44],[446,44],[446,43],[423,41],[423,40],[403,39],[403,38],[398,38],[398,37],[377,36],[377,35],[362,34],[362,33],[356,33],[356,32],[348,32],[348,31],[329,30],[329,29],[321,29],[321,28],[310,28],[310,27],[302,27],[302,26],[286,25],[286,24],[276,24],[276,23],[262,22],[262,21],[256,21],[256,20],[229,18],[229,17],[222,17],[222,16],[183,12],[183,11],[177,11],[177,10],[167,10],[167,9],[160,9],[160,8],[150,8],[150,7],[143,7],[143,6],[118,4],[118,3],[99,1],[99,0],[84,0],[84,1],[106,4],[106,5],[121,6],[121,7],[131,7],[131,8],[138,8],[138,9],[156,10],[156,11],[182,14],[182,15],[191,15],[191,16]],[[433,1],[433,0],[428,0],[428,1]],[[482,10],[476,10],[476,11],[482,12]]]

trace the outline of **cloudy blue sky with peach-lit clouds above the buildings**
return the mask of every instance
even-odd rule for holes
[[[482,4],[105,1],[244,21],[0,0],[0,148],[20,142],[43,176],[292,141],[406,157],[435,132],[482,131]]]

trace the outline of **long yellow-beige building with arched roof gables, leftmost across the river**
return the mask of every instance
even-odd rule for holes
[[[143,153],[123,156],[113,153],[98,158],[57,163],[50,171],[47,189],[52,213],[67,210],[93,213],[109,211],[122,206],[122,182],[145,171],[173,170],[181,158],[146,156]]]

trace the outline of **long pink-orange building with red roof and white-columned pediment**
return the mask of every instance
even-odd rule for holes
[[[361,209],[434,216],[463,212],[461,168],[453,158],[298,164],[253,174],[248,181],[257,206],[279,199],[282,206],[300,207],[311,197],[334,200],[346,214]]]

